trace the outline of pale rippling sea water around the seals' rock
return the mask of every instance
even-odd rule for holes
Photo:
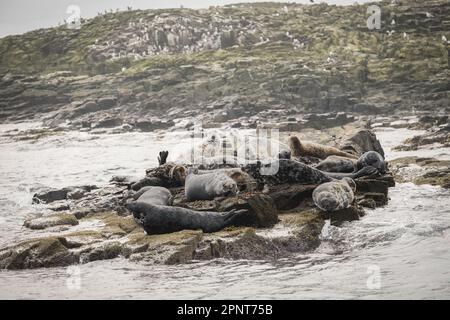
[[[27,127],[38,124],[27,124]],[[0,246],[27,236],[24,219],[44,207],[33,190],[106,184],[143,175],[160,150],[185,155],[187,133],[64,133],[38,141],[6,137],[0,126]],[[25,128],[20,125],[19,129]],[[392,147],[420,132],[378,129],[388,159],[415,155]],[[446,149],[420,151],[450,158]],[[340,228],[326,224],[322,244],[277,261],[213,260],[155,266],[118,258],[69,268],[0,271],[3,299],[449,299],[450,191],[397,184],[390,202]]]

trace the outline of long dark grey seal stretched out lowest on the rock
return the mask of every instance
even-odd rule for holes
[[[143,202],[131,202],[127,208],[147,234],[162,234],[181,230],[217,232],[230,226],[239,226],[238,219],[247,210],[229,212],[195,211],[181,207],[155,206]],[[240,219],[242,220],[242,219]]]

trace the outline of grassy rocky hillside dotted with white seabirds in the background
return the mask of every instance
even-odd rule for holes
[[[0,121],[151,131],[199,115],[251,126],[307,113],[448,113],[449,1],[376,4],[380,30],[368,29],[367,4],[253,3],[111,12],[80,29],[9,36]]]

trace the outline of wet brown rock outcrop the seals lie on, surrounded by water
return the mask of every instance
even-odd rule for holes
[[[347,150],[355,154],[371,149],[383,153],[372,132],[360,130],[359,125],[349,128],[354,135],[345,140]],[[340,225],[364,216],[363,207],[385,205],[388,188],[395,184],[390,173],[356,179],[356,201],[346,209],[327,213],[315,208],[311,199],[317,185],[293,183],[245,188],[245,183],[254,184],[253,179],[247,178],[242,178],[242,191],[235,196],[189,202],[184,192],[185,173],[185,166],[167,162],[146,170],[144,179],[117,176],[111,184],[99,188],[37,190],[33,201],[46,204],[53,213],[25,221],[24,226],[33,230],[36,237],[1,248],[0,268],[66,266],[118,256],[152,264],[215,258],[279,259],[314,250],[320,244],[325,220]],[[135,190],[151,183],[170,188],[174,206],[198,211],[247,212],[240,215],[235,226],[219,232],[183,230],[147,235],[125,204]]]

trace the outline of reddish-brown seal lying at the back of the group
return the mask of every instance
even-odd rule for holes
[[[300,139],[296,136],[289,137],[289,148],[294,157],[310,156],[326,159],[328,156],[341,156],[353,159],[356,158],[353,154],[341,151],[334,147],[313,142],[300,142]]]

